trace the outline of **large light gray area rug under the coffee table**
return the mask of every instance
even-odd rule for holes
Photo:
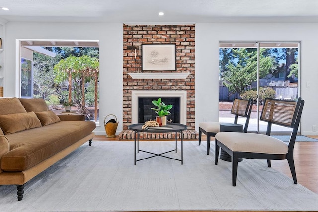
[[[175,142],[140,142],[140,149],[161,153]],[[183,165],[163,157],[134,165],[134,142],[84,144],[25,185],[22,201],[15,186],[0,186],[1,212],[12,211],[178,211],[318,210],[318,195],[268,168],[265,160],[239,162],[237,186],[231,163],[214,165],[214,145],[184,141]],[[166,155],[180,158],[178,153]],[[140,152],[137,159],[150,156]],[[286,161],[286,165],[287,161]]]

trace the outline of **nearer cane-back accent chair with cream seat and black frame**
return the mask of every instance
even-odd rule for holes
[[[267,122],[266,135],[256,133],[220,132],[215,136],[215,164],[218,164],[220,147],[232,156],[232,185],[236,186],[238,158],[287,159],[294,183],[297,184],[294,165],[294,145],[304,107],[304,100],[277,100],[266,98],[260,120]],[[277,124],[293,128],[289,143],[271,137],[271,126]]]

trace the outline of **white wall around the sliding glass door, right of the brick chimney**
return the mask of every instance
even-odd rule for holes
[[[300,97],[305,100],[301,119],[303,135],[318,135],[318,24],[196,24],[195,105],[196,127],[207,118],[218,120],[219,41],[301,41]],[[310,82],[311,87],[306,87]],[[318,127],[317,127],[318,128]],[[318,130],[318,129],[317,129]]]

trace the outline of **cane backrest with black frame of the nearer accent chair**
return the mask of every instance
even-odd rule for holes
[[[266,135],[270,135],[272,124],[293,128],[288,144],[289,152],[294,148],[304,103],[305,101],[300,97],[298,100],[266,98],[264,101],[260,120],[268,123]]]

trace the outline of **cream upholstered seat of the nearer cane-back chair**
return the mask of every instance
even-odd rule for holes
[[[235,138],[235,139],[233,139]],[[287,154],[287,143],[267,135],[256,133],[220,132],[215,139],[233,152]]]

